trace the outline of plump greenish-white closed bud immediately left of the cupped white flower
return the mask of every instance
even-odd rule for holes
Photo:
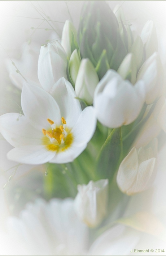
[[[79,98],[86,101],[88,105],[93,103],[95,88],[99,83],[99,77],[89,59],[82,59],[79,67],[75,92]]]

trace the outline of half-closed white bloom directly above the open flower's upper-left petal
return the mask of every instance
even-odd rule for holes
[[[57,53],[48,51],[38,65],[38,77],[42,87],[49,92],[54,83],[63,76],[67,78],[66,63]]]

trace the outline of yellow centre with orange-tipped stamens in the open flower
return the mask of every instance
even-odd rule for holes
[[[43,134],[43,144],[48,150],[51,151],[64,151],[73,142],[73,135],[70,133],[71,129],[66,126],[66,120],[64,117],[61,118],[62,125],[56,127],[55,123],[51,119],[47,119],[51,125],[51,129],[42,129]]]

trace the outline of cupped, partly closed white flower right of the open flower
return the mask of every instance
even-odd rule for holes
[[[96,115],[102,125],[110,128],[128,125],[140,113],[144,103],[144,83],[134,86],[114,70],[108,70],[94,94]]]

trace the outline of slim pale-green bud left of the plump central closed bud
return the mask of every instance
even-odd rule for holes
[[[70,60],[69,60],[69,72],[70,72],[70,77],[75,84],[77,75],[78,75],[78,70],[80,66],[81,59],[78,55],[77,49],[73,51],[71,54]]]

